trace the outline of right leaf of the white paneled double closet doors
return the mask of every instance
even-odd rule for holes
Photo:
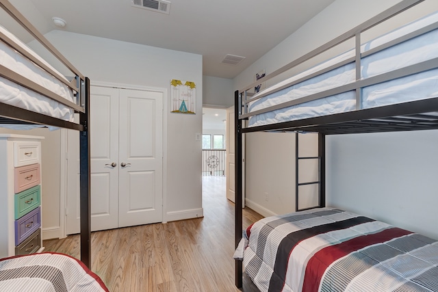
[[[119,227],[162,222],[163,98],[120,90]]]

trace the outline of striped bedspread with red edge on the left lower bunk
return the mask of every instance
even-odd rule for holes
[[[108,291],[101,278],[76,258],[44,252],[0,259],[0,291]]]

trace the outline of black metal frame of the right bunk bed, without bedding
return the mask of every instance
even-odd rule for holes
[[[318,133],[318,158],[320,160],[320,178],[319,185],[319,198],[318,206],[315,207],[325,207],[325,136],[326,135],[339,135],[339,134],[350,134],[350,133],[377,133],[377,132],[394,132],[394,131],[418,131],[418,130],[428,130],[428,129],[438,129],[438,96],[435,98],[428,98],[419,101],[411,101],[407,103],[400,103],[395,105],[386,105],[383,107],[374,107],[369,109],[360,109],[361,101],[361,88],[372,85],[376,83],[381,83],[384,81],[389,81],[392,79],[397,79],[399,77],[405,77],[408,75],[414,75],[418,72],[424,72],[426,70],[431,70],[438,68],[438,59],[431,59],[428,62],[423,62],[420,64],[415,64],[400,70],[394,70],[376,77],[370,77],[368,79],[361,80],[360,78],[360,59],[364,54],[361,54],[361,33],[383,23],[388,18],[400,14],[404,10],[421,3],[424,0],[404,0],[394,5],[392,8],[385,10],[381,14],[374,16],[369,21],[347,31],[342,36],[327,42],[318,49],[315,49],[306,55],[290,62],[289,64],[279,68],[278,70],[272,72],[266,77],[259,79],[243,90],[235,91],[235,248],[242,239],[242,194],[243,194],[243,151],[242,151],[242,140],[244,133],[252,132],[312,132]],[[430,25],[420,31],[417,31],[415,36],[424,34],[427,31],[436,29],[438,24]],[[407,37],[402,37],[392,44],[403,42],[409,38],[413,38],[411,34]],[[350,83],[348,85],[341,86],[339,88],[334,88],[333,90],[326,90],[325,92],[320,92],[319,94],[313,94],[312,96],[307,96],[305,98],[299,98],[295,101],[289,101],[283,103],[282,105],[272,106],[266,109],[261,109],[253,113],[248,113],[248,103],[254,101],[255,98],[251,99],[253,96],[249,91],[253,90],[256,85],[259,85],[263,81],[276,77],[281,73],[302,64],[303,62],[327,51],[338,44],[349,40],[350,38],[355,38],[356,44],[356,56],[350,59],[350,62],[356,63],[356,74],[357,81]],[[388,46],[381,46],[368,52],[368,54],[374,51],[379,51],[385,49]],[[340,64],[338,64],[340,66]],[[333,67],[332,67],[333,68]],[[324,71],[326,72],[326,71]],[[322,71],[315,73],[318,75]],[[312,75],[312,76],[314,76]],[[279,88],[279,90],[285,88]],[[313,101],[318,98],[324,98],[326,96],[331,96],[333,94],[338,94],[341,92],[347,92],[350,90],[356,91],[356,110],[348,111],[341,114],[333,114],[330,116],[318,116],[315,118],[305,118],[302,120],[293,120],[290,122],[281,122],[276,124],[268,124],[256,127],[244,127],[244,120],[248,120],[250,116],[255,116],[256,114],[262,114],[263,112],[272,111],[274,109],[280,109],[283,107],[289,107],[296,105],[298,103],[305,103],[307,101]],[[258,96],[261,98],[262,96]],[[298,184],[298,181],[296,182]],[[296,196],[298,196],[296,194]],[[298,197],[296,197],[296,209],[298,208]],[[308,208],[307,208],[308,209]],[[302,210],[302,209],[301,209]],[[235,261],[235,285],[236,287],[242,287],[242,261]]]

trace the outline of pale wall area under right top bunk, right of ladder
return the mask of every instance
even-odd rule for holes
[[[438,131],[326,139],[327,205],[438,238]]]

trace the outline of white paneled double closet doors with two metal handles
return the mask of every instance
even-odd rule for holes
[[[92,231],[162,222],[164,92],[92,86],[90,95]],[[77,171],[67,206],[67,233],[79,233]]]

